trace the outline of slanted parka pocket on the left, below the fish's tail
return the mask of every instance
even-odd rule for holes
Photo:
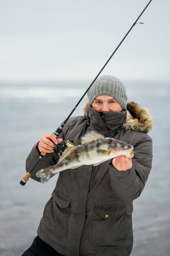
[[[71,215],[70,202],[70,198],[55,189],[44,209],[44,225],[57,238],[62,238],[67,234],[68,220]]]

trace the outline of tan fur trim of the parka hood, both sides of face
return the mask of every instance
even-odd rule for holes
[[[88,101],[84,106],[84,116],[88,119]],[[153,117],[150,115],[148,108],[128,101],[126,122],[123,124],[125,130],[138,130],[148,133],[152,129]]]

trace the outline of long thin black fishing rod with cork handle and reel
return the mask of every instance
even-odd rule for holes
[[[64,123],[57,128],[57,130],[55,130],[55,132],[53,133],[53,135],[57,138],[60,133],[62,132],[62,128],[64,127],[64,125],[66,124],[66,122],[68,121],[68,119],[71,117],[71,115],[73,114],[73,112],[75,111],[75,109],[77,108],[77,106],[79,105],[79,103],[82,101],[82,99],[84,98],[84,96],[86,95],[86,93],[88,92],[88,90],[91,88],[91,86],[93,85],[93,83],[96,81],[97,77],[99,76],[99,74],[104,70],[104,68],[106,67],[106,65],[108,64],[108,62],[110,61],[110,59],[113,57],[113,55],[115,54],[115,52],[117,51],[117,49],[119,48],[119,46],[123,43],[123,41],[125,40],[126,36],[128,36],[128,34],[130,33],[130,31],[132,30],[132,28],[136,25],[136,24],[144,24],[143,22],[139,22],[137,23],[137,21],[139,20],[139,18],[141,17],[141,15],[144,13],[144,11],[146,10],[146,8],[148,7],[148,5],[150,4],[150,2],[152,2],[152,0],[150,0],[148,2],[148,4],[146,5],[146,7],[144,8],[144,10],[141,12],[141,14],[139,15],[139,17],[137,18],[137,20],[135,20],[135,22],[133,23],[132,27],[130,27],[129,31],[127,32],[127,34],[124,36],[124,38],[121,40],[121,42],[119,43],[119,45],[116,47],[115,51],[113,52],[113,54],[110,56],[110,58],[108,58],[108,61],[106,61],[106,63],[104,64],[104,66],[102,67],[102,69],[99,71],[99,73],[97,74],[97,76],[95,77],[95,79],[93,80],[93,82],[91,83],[91,85],[88,87],[88,89],[86,90],[86,92],[84,92],[83,96],[81,97],[81,99],[77,102],[77,104],[75,105],[75,107],[73,108],[73,110],[71,111],[71,113],[68,115],[68,117],[66,118],[66,120],[64,121]],[[67,141],[65,142],[67,144]],[[69,143],[69,142],[68,142]],[[22,180],[20,181],[20,184],[22,186],[24,186],[26,184],[26,182],[28,181],[29,177],[31,176],[31,173],[33,171],[33,169],[35,168],[35,166],[38,164],[38,162],[42,159],[42,157],[44,157],[46,155],[46,152],[41,152],[39,158],[37,159],[37,161],[35,162],[35,164],[33,165],[33,167],[31,168],[31,170],[26,173],[26,175],[22,178]]]

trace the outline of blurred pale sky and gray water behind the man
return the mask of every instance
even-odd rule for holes
[[[19,184],[31,148],[68,116],[148,2],[0,0],[1,256],[31,245],[57,181]],[[169,10],[169,0],[153,0],[102,72],[154,117],[153,166],[134,201],[131,256],[170,255]]]

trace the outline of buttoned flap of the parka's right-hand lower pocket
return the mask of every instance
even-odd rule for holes
[[[108,219],[121,215],[123,213],[126,213],[126,204],[95,205],[95,217],[100,216],[104,219]]]

